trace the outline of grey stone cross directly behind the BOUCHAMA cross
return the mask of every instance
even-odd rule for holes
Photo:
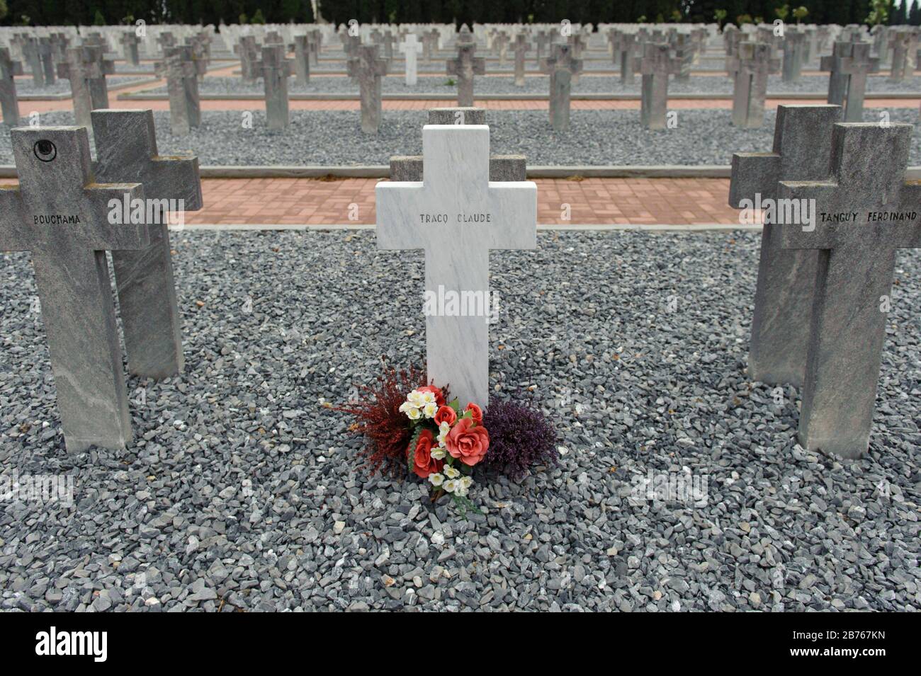
[[[128,371],[143,378],[166,378],[181,372],[183,365],[166,215],[202,208],[198,158],[157,154],[152,110],[93,110],[93,138],[96,179],[140,183],[146,201],[156,207],[155,222],[148,223],[150,246],[112,251],[111,258]]]

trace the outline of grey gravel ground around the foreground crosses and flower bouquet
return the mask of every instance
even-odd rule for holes
[[[778,406],[746,377],[757,242],[496,252],[492,384],[536,386],[561,457],[479,476],[469,521],[356,468],[349,418],[321,406],[380,355],[423,357],[423,316],[393,292],[422,279],[417,253],[370,232],[173,235],[185,372],[129,380],[130,449],[70,457],[29,257],[8,254],[0,472],[68,475],[74,500],[0,501],[0,608],[916,611],[921,257],[897,266],[869,454],[845,462],[796,446],[793,388]],[[705,493],[647,499],[649,473]]]

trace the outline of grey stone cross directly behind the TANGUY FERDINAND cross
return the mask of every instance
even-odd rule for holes
[[[780,105],[774,150],[732,155],[729,206],[762,205],[765,215],[749,350],[752,381],[803,384],[818,255],[780,246],[780,214],[786,212],[777,208],[777,184],[828,177],[832,130],[840,120],[840,106]]]

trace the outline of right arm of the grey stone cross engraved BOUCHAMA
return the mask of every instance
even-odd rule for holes
[[[96,251],[129,251],[150,246],[145,223],[110,223],[108,214],[127,201],[144,200],[140,183],[90,183],[83,189],[81,212],[92,214],[95,223],[84,227],[87,247]]]

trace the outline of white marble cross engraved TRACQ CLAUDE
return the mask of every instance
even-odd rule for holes
[[[422,182],[380,182],[376,189],[378,248],[425,249],[420,298],[485,298],[489,250],[537,246],[537,186],[489,180],[489,127],[426,125]],[[468,294],[468,295],[464,295]],[[428,377],[449,385],[461,407],[489,403],[488,317],[426,311]],[[459,315],[461,314],[461,315]]]

